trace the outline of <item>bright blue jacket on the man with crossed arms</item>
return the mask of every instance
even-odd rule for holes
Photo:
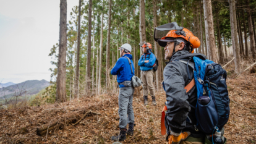
[[[148,59],[150,58],[150,59]],[[145,63],[144,61],[149,61],[148,63]],[[147,53],[142,54],[142,57],[140,57],[138,65],[140,66],[140,70],[147,71],[153,69],[153,65],[156,62],[155,54],[153,53]]]

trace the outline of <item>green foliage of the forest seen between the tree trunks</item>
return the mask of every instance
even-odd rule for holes
[[[193,33],[196,32],[195,18],[198,14],[202,13],[202,32],[203,41],[205,41],[205,22],[203,20],[203,2],[199,0],[160,0],[156,1],[156,13],[157,13],[157,25],[163,25],[165,23],[176,21],[178,25],[181,25],[182,20],[184,27],[191,30]],[[201,4],[200,4],[201,2]],[[250,1],[250,6],[255,6],[255,1]],[[237,12],[244,11],[245,16],[247,15],[245,11],[245,1],[241,1],[241,7],[237,7]],[[77,3],[78,5],[78,3]],[[200,6],[199,6],[200,5]],[[110,43],[110,58],[106,59],[106,40],[107,40],[107,30],[108,30],[108,0],[93,0],[92,4],[92,27],[95,27],[95,48],[92,48],[92,52],[95,52],[95,58],[91,56],[91,67],[94,66],[94,74],[96,75],[96,59],[99,57],[96,51],[100,48],[100,30],[101,30],[101,14],[104,14],[103,20],[103,57],[101,65],[101,85],[105,85],[105,66],[106,61],[110,61],[110,66],[114,66],[117,58],[120,57],[117,48],[121,44],[130,43],[133,51],[136,49],[137,53],[135,56],[137,59],[140,57],[140,2],[139,0],[116,0],[112,1],[111,9],[111,43]],[[200,9],[201,7],[201,9]],[[78,27],[78,6],[72,8],[70,12],[70,20],[67,22],[67,65],[66,65],[66,91],[67,96],[72,98],[74,95],[74,80],[75,80],[75,67],[76,67],[76,54],[77,54],[77,27]],[[212,11],[213,20],[215,25],[215,35],[218,32],[216,27],[216,22],[219,20],[221,40],[224,44],[223,36],[226,38],[226,45],[231,46],[231,26],[230,26],[230,15],[229,15],[229,2],[228,1],[212,1]],[[147,42],[151,43],[154,49],[153,40],[153,0],[145,1],[145,27],[146,27],[146,37]],[[255,12],[253,12],[255,17]],[[81,11],[81,34],[80,34],[80,75],[79,83],[80,90],[84,90],[84,82],[86,75],[86,64],[87,64],[87,44],[88,44],[88,1],[82,1],[82,11]],[[182,17],[183,15],[183,17]],[[245,20],[247,17],[242,17],[241,20]],[[245,20],[246,21],[246,20]],[[198,22],[200,23],[200,22]],[[200,23],[201,25],[201,23]],[[92,29],[93,33],[93,29]],[[129,35],[129,36],[127,36]],[[92,41],[93,43],[93,41]],[[205,47],[205,42],[203,42],[203,47]],[[92,44],[93,46],[93,44]],[[160,49],[159,49],[160,51]],[[100,51],[98,51],[100,53]],[[113,56],[112,56],[113,53]],[[162,49],[162,55],[164,51]],[[132,53],[133,54],[133,53]],[[91,53],[92,55],[92,53]],[[51,83],[56,82],[57,75],[57,60],[58,60],[58,44],[54,45],[49,54],[53,58],[51,64],[54,68],[51,68]],[[113,61],[114,60],[114,61]],[[163,62],[164,63],[164,62]],[[136,65],[136,64],[135,64]],[[163,64],[163,66],[165,66]],[[91,69],[92,73],[92,69]],[[94,77],[94,81],[96,76]],[[49,102],[54,101],[54,91],[56,90],[56,84],[54,84],[51,92],[49,92]]]

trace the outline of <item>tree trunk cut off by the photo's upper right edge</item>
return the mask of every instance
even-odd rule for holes
[[[254,41],[254,28],[252,27],[252,16],[250,12],[250,4],[249,0],[247,0],[247,14],[248,14],[248,27],[249,27],[249,35],[250,35],[250,51],[252,51],[252,58],[256,59],[256,48]]]

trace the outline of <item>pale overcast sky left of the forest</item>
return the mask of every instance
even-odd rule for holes
[[[59,42],[59,0],[0,0],[0,82],[50,80]],[[67,20],[79,0],[67,0]]]

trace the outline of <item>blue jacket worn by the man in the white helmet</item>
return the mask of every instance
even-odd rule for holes
[[[132,62],[132,70],[134,72],[134,62],[132,61],[132,54],[124,54],[130,58],[130,62]],[[126,80],[132,80],[134,73],[130,70],[130,64],[126,57],[120,57],[116,64],[114,65],[113,69],[111,70],[111,75],[117,75],[117,82],[121,83]],[[120,88],[125,87],[124,85],[119,85]]]

